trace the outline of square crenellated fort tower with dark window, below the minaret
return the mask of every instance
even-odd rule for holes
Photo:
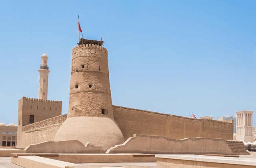
[[[33,122],[40,122],[48,118],[61,115],[62,101],[42,100],[35,98],[22,97],[18,105],[18,137],[17,146],[22,143],[21,132],[22,126],[31,124]]]

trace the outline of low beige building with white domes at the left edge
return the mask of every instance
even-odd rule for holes
[[[0,146],[16,146],[17,126],[14,124],[0,123]]]

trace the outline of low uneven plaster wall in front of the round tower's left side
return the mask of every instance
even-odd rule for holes
[[[91,143],[86,145],[78,140],[67,141],[46,141],[39,144],[29,145],[26,153],[55,153],[55,154],[100,154],[105,153],[101,146],[95,146]]]

